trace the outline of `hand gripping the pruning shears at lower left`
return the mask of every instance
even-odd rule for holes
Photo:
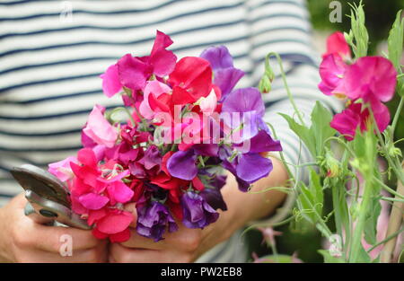
[[[24,215],[27,200],[23,194],[0,209],[0,261],[4,262],[104,262],[107,241],[92,236],[91,231],[73,227],[47,226]],[[62,256],[62,235],[70,235],[72,255]]]

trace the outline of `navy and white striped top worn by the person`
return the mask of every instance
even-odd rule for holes
[[[247,74],[240,87],[258,85],[264,58],[275,51],[284,59],[305,118],[315,101],[330,110],[340,107],[317,89],[319,57],[312,51],[304,0],[2,1],[0,206],[21,192],[10,179],[11,167],[25,162],[46,167],[75,154],[93,104],[119,105],[118,97],[102,94],[99,75],[128,52],[148,54],[156,30],[171,36],[178,57],[198,56],[212,45],[227,46],[235,66]],[[264,100],[266,119],[276,128],[287,161],[295,163],[300,142],[277,115],[293,115],[280,79]],[[300,162],[309,161],[303,147]],[[293,198],[287,201],[277,219],[285,216]],[[234,237],[201,260],[245,259],[243,249],[228,252],[240,244]]]

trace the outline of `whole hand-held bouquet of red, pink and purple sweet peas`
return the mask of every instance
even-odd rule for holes
[[[244,75],[224,46],[177,61],[169,36],[157,31],[149,56],[127,54],[101,75],[103,92],[124,106],[95,105],[76,156],[49,164],[66,182],[72,209],[92,233],[127,241],[136,203],[136,232],[163,239],[178,222],[204,228],[226,210],[220,189],[230,171],[239,189],[268,176],[267,154],[281,151],[263,120],[255,88],[233,90]]]

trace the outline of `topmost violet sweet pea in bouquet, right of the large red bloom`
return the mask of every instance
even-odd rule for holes
[[[233,57],[224,46],[206,48],[200,57],[205,58],[214,71],[214,83],[222,91],[222,101],[232,92],[244,72],[233,66]]]

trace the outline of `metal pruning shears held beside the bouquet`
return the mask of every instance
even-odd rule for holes
[[[72,211],[69,190],[53,174],[31,164],[13,167],[10,172],[25,190],[28,202],[24,213],[33,221],[48,225],[56,221],[83,230],[91,229]]]

